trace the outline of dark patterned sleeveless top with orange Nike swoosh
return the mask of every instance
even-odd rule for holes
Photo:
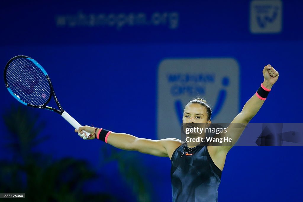
[[[197,146],[187,155],[184,147],[188,152],[185,142],[171,157],[173,202],[218,201],[222,171],[212,161],[207,146]]]

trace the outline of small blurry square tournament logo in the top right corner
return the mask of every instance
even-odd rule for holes
[[[250,4],[251,33],[280,33],[282,30],[281,0],[255,0]]]

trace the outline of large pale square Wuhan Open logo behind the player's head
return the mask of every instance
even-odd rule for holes
[[[205,98],[211,121],[231,122],[239,113],[239,65],[233,58],[166,59],[158,68],[158,139],[180,139],[183,110]]]

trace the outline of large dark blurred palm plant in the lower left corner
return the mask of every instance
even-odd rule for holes
[[[0,162],[0,193],[25,193],[20,200],[30,202],[121,201],[111,194],[85,192],[85,183],[97,176],[87,162],[72,157],[54,160],[34,151],[48,136],[40,135],[45,122],[32,109],[12,105],[3,120],[9,133],[2,138],[12,159]]]

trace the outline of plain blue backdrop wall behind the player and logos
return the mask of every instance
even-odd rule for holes
[[[279,71],[278,82],[253,122],[302,122],[300,1],[283,1],[282,30],[275,34],[250,32],[250,1],[16,2],[1,3],[0,64],[4,68],[15,55],[33,57],[48,72],[62,107],[83,125],[156,139],[159,63],[166,58],[217,57],[238,61],[240,108],[263,81],[265,65]],[[156,12],[177,13],[178,26],[170,28],[168,20],[155,25],[152,16]],[[79,19],[98,13],[144,13],[151,23],[120,28],[117,23],[57,24],[58,16]],[[4,83],[0,93],[3,114],[17,101]],[[83,141],[58,114],[33,110],[48,120],[43,133],[51,135],[39,151],[55,158],[84,159],[99,172],[105,171],[99,161],[102,142]],[[3,121],[0,124],[5,135],[7,129]],[[219,201],[300,200],[302,154],[301,147],[232,148],[218,190]],[[154,200],[171,201],[169,159],[139,156],[148,167],[145,173],[154,187]],[[2,146],[0,157],[10,158]],[[115,164],[106,170],[114,182],[111,186],[116,186],[112,192],[127,192],[117,190],[121,180],[115,177]],[[92,184],[103,187],[104,181],[100,177]]]

